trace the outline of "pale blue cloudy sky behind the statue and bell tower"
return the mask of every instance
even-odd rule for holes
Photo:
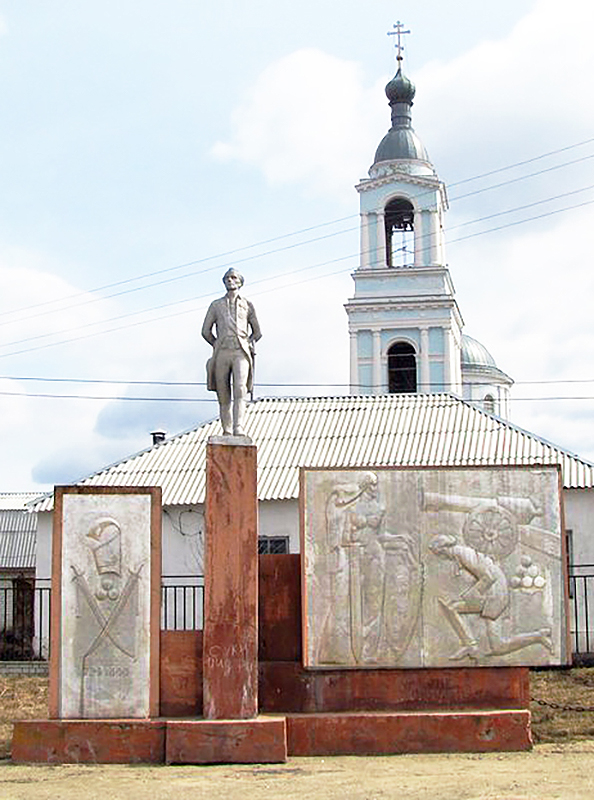
[[[230,265],[256,396],[348,391],[398,20],[464,332],[514,423],[594,459],[591,3],[0,0],[0,492],[216,416],[200,328]]]

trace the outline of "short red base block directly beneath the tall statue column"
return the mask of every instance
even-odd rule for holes
[[[277,764],[286,760],[285,717],[167,723],[167,764]]]

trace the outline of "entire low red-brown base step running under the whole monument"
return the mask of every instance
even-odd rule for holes
[[[530,750],[526,709],[345,712],[250,720],[26,720],[12,759],[45,764],[276,764],[287,756]]]

